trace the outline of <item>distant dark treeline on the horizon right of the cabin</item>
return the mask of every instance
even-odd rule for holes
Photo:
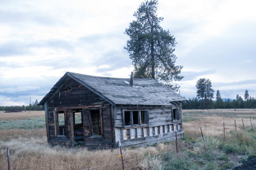
[[[212,101],[207,101],[209,103],[209,109],[243,109],[243,108],[256,108],[256,99],[250,97],[246,101],[242,97],[237,97],[237,99],[230,101],[229,99],[223,101],[222,99]],[[205,100],[199,100],[197,97],[193,99],[188,99],[188,102],[182,104],[183,109],[206,109]]]

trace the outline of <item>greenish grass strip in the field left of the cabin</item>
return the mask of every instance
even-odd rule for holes
[[[0,129],[41,129],[44,127],[44,117],[31,117],[23,120],[0,121]]]

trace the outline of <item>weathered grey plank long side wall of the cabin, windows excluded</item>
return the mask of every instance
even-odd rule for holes
[[[178,120],[173,120],[172,110],[178,109]],[[127,127],[123,125],[122,110],[147,110],[148,124]],[[122,146],[145,146],[183,137],[181,104],[172,106],[117,106],[115,110],[115,143]]]

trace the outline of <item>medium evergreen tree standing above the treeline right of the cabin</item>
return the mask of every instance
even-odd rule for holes
[[[196,81],[196,94],[199,99],[204,101],[206,109],[209,109],[209,103],[213,98],[214,90],[212,89],[212,83],[209,79],[200,78]]]

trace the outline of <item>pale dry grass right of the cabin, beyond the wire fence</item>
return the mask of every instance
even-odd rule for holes
[[[225,122],[225,133],[237,131],[244,127],[256,127],[256,110],[184,110],[184,118],[195,119],[183,123],[184,134],[189,137],[198,138],[201,136],[200,125],[206,136],[223,136],[223,122]],[[242,122],[243,117],[243,122]],[[251,120],[250,120],[251,117]],[[189,119],[188,119],[189,120]]]

